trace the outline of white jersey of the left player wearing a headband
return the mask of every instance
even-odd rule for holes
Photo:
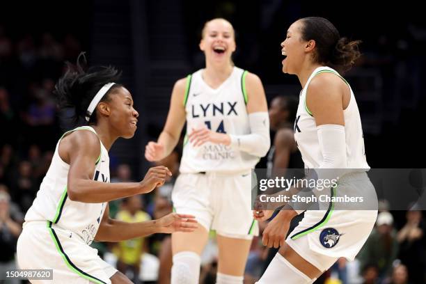
[[[96,134],[95,129],[84,126],[66,132],[63,136],[83,129]],[[90,244],[95,238],[108,203],[81,203],[68,198],[67,181],[70,165],[59,157],[58,146],[61,139],[56,144],[52,164],[40,184],[37,197],[26,212],[25,221],[51,221],[59,228],[76,233],[86,244]],[[101,155],[96,161],[93,180],[109,182],[109,155],[102,142],[100,145]]]

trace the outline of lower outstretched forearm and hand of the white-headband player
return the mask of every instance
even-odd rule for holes
[[[193,232],[197,228],[194,216],[171,213],[158,220],[127,223],[109,218],[109,205],[97,230],[97,242],[121,242],[145,237],[157,232]]]

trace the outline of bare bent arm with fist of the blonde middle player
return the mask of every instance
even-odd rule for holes
[[[164,159],[170,155],[176,144],[178,144],[180,133],[186,120],[184,97],[187,80],[187,78],[180,79],[173,86],[166,125],[164,125],[157,142],[149,142],[145,147],[145,158],[148,161]]]

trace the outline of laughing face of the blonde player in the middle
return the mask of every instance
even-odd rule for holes
[[[232,52],[235,52],[234,29],[226,19],[212,19],[203,29],[200,49],[207,61],[229,63]]]

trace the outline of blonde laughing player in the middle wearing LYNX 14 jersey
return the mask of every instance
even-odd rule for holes
[[[251,214],[251,169],[269,150],[269,118],[262,82],[233,65],[232,25],[212,19],[200,49],[205,68],[176,82],[163,132],[145,157],[163,159],[175,148],[187,122],[180,175],[172,193],[176,212],[193,214],[199,226],[172,235],[172,284],[198,284],[200,253],[216,230],[216,283],[243,283],[244,267],[258,224]]]

